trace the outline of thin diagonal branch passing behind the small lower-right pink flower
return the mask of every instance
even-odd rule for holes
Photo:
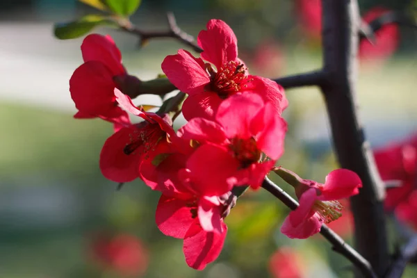
[[[277,199],[288,206],[288,208],[291,208],[291,210],[295,210],[295,208],[298,207],[298,202],[295,201],[293,197],[288,195],[288,193],[270,181],[270,179],[267,177],[265,177],[263,180],[262,187],[277,197]],[[327,227],[325,224],[322,224],[320,234],[322,234],[322,236],[324,236],[329,241],[329,243],[332,243],[334,251],[345,256],[346,259],[348,259],[350,262],[352,262],[353,265],[361,270],[364,277],[377,278],[377,275],[375,275],[375,272],[373,272],[370,263],[366,261],[366,259],[364,259],[363,256],[356,252],[350,245],[345,243],[345,241],[334,231],[332,231],[332,229]]]

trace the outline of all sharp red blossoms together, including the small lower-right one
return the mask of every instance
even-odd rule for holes
[[[161,106],[153,113],[133,104],[121,82],[132,76],[108,36],[85,38],[85,63],[74,72],[70,91],[79,109],[75,117],[115,124],[101,149],[104,177],[118,183],[140,178],[159,191],[158,228],[181,238],[186,263],[202,270],[222,250],[224,218],[236,204],[233,189],[259,188],[284,152],[287,125],[281,113],[288,101],[277,83],[248,73],[227,24],[212,19],[197,39],[200,57],[180,49],[161,65],[170,83],[188,95],[181,108],[188,122],[178,131],[172,111]],[[131,123],[128,113],[142,122]],[[284,223],[284,234],[309,237],[327,218],[340,215],[341,207],[334,215],[328,201],[356,194],[360,180],[347,172],[336,176],[329,176],[329,185],[309,183],[310,190],[297,194],[300,208]],[[341,188],[335,189],[338,183]]]

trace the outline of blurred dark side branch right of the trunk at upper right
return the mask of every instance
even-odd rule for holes
[[[370,23],[362,22],[362,28],[361,32],[359,32],[359,37],[361,39],[367,38],[372,42],[374,38],[373,34],[387,24],[398,24],[401,26],[417,28],[416,22],[414,19],[411,19],[411,17],[408,17],[403,13],[387,12],[384,13],[384,15],[377,17],[377,19],[374,19]]]

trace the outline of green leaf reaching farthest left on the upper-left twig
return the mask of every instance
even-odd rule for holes
[[[115,22],[101,15],[86,15],[76,22],[58,23],[54,26],[54,35],[60,40],[79,38],[96,26],[117,26]]]

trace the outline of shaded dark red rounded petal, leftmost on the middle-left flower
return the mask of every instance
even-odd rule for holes
[[[116,182],[133,181],[138,177],[140,152],[125,154],[135,127],[124,127],[110,136],[100,153],[100,170],[107,179]]]

